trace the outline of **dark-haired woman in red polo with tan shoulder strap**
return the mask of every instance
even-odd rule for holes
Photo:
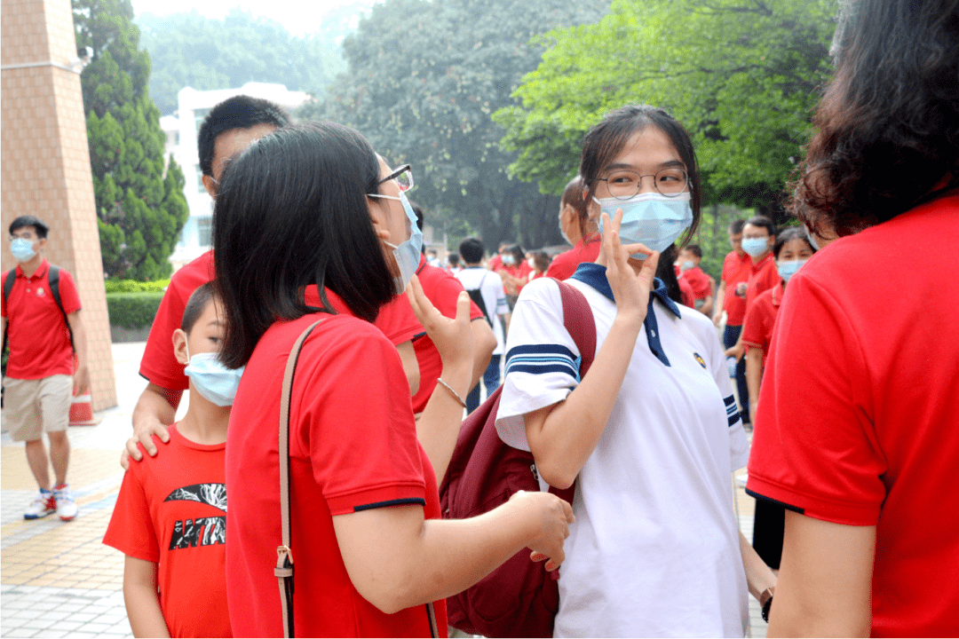
[[[564,559],[572,510],[546,492],[518,493],[474,519],[439,519],[437,476],[456,443],[473,364],[469,298],[460,294],[451,320],[412,285],[446,387],[418,423],[399,355],[371,324],[419,259],[403,194],[411,184],[409,167],[389,169],[363,136],[333,123],[280,129],[238,156],[222,181],[214,212],[221,356],[246,367],[226,443],[236,636],[283,634],[273,573],[278,458],[288,453],[278,445],[280,393],[292,344],[316,320],[289,415],[297,636],[445,635],[445,597],[527,546],[547,569]],[[304,289],[318,308],[306,306]]]

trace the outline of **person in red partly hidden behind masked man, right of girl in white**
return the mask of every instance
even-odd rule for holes
[[[733,250],[723,259],[722,276],[716,290],[713,324],[719,326],[725,311],[726,328],[722,334],[722,345],[727,349],[736,346],[739,341],[742,322],[746,316],[746,283],[749,281],[753,259],[742,250],[742,227],[745,224],[743,219],[734,219],[729,225],[729,245]],[[743,422],[750,423],[746,361],[742,358],[739,358],[736,364],[736,390],[739,396],[739,415]]]

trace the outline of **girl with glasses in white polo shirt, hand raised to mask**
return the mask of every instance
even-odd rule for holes
[[[530,283],[497,416],[543,481],[575,483],[553,634],[741,637],[747,576],[762,604],[775,583],[733,513],[749,446],[713,324],[654,278],[699,219],[690,138],[664,110],[626,106],[587,134],[580,174],[603,243],[568,282],[593,310],[594,365],[580,379],[556,283]]]

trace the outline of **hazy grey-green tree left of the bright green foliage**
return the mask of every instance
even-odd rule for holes
[[[343,42],[347,73],[324,104],[301,117],[355,126],[394,164],[409,163],[411,194],[429,222],[453,236],[477,233],[487,246],[562,241],[558,198],[505,171],[492,113],[539,64],[530,40],[550,29],[597,20],[608,3],[562,0],[386,0]]]

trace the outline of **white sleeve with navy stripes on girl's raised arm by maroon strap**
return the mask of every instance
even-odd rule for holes
[[[579,383],[579,351],[563,325],[556,283],[535,280],[523,289],[506,338],[505,378],[496,429],[508,445],[529,450],[526,413],[558,403]]]

